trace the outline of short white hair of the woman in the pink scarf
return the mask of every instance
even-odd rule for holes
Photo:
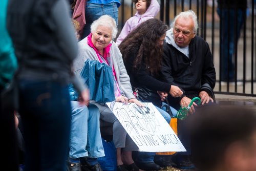
[[[109,27],[112,30],[112,39],[116,38],[116,21],[110,15],[102,15],[98,19],[96,19],[91,25],[91,32],[95,32],[99,26]]]

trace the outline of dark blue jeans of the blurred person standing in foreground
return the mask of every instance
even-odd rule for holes
[[[26,170],[65,170],[71,106],[68,86],[57,81],[19,80]]]

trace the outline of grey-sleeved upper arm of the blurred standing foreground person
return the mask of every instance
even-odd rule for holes
[[[77,56],[78,46],[67,2],[58,0],[52,8],[51,17],[56,27],[54,30],[59,46],[65,52],[64,57],[72,61]]]

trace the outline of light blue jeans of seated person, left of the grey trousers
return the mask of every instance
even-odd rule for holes
[[[99,129],[99,109],[96,105],[88,107],[71,101],[72,118],[70,133],[70,158],[105,156]]]

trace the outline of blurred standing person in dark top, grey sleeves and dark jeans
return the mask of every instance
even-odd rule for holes
[[[73,82],[81,104],[89,99],[71,65],[77,39],[64,0],[11,0],[7,28],[18,59],[19,114],[24,126],[25,170],[67,170]],[[18,29],[17,29],[18,28]],[[67,48],[69,47],[69,48]]]

